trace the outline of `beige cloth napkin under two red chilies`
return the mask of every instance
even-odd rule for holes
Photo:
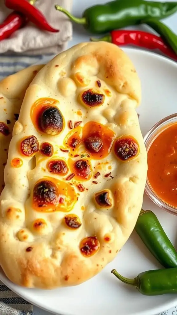
[[[72,37],[72,25],[65,14],[55,10],[55,4],[71,11],[72,0],[37,0],[35,6],[43,12],[49,24],[60,29],[60,32],[42,31],[34,24],[28,23],[8,39],[0,41],[0,53],[57,54],[64,50],[67,41]],[[11,10],[5,7],[4,0],[0,0],[0,23],[10,12]]]

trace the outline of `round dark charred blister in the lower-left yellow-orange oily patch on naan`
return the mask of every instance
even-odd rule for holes
[[[37,207],[56,204],[58,199],[57,186],[50,180],[40,180],[33,188],[33,203]]]

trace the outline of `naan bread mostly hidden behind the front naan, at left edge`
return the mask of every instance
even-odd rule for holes
[[[43,66],[31,66],[0,81],[0,193],[14,123],[19,117],[26,89]]]

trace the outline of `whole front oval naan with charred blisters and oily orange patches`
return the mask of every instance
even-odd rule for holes
[[[111,43],[79,44],[36,75],[14,126],[1,194],[0,263],[11,281],[80,284],[127,241],[147,173],[140,98],[132,62]]]

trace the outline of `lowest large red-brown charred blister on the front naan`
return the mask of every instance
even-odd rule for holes
[[[89,236],[83,238],[83,240],[80,242],[80,251],[81,254],[85,257],[89,257],[96,254],[99,248],[100,243],[96,236]]]

